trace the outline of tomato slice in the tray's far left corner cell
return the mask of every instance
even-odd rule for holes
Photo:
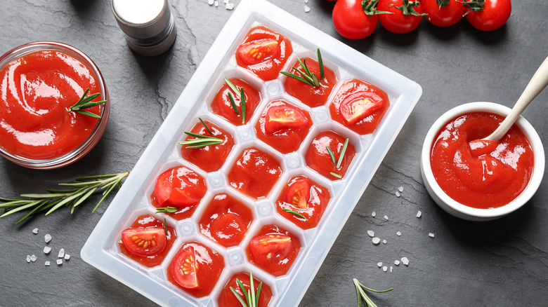
[[[148,257],[164,251],[167,236],[163,227],[128,228],[122,231],[122,243],[131,254]]]

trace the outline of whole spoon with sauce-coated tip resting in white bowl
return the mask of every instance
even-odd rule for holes
[[[521,112],[537,97],[542,90],[548,85],[548,57],[540,64],[533,78],[529,81],[526,89],[523,90],[514,108],[500,123],[499,127],[487,137],[483,139],[474,139],[470,142],[470,149],[474,156],[481,156],[494,151],[498,142],[508,132],[512,125],[516,122]]]

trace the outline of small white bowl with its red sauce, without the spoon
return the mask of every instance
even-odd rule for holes
[[[421,173],[433,200],[446,212],[488,221],[518,210],[533,197],[544,175],[544,149],[535,128],[520,116],[491,148],[471,141],[490,135],[510,109],[471,102],[433,123],[421,153]]]

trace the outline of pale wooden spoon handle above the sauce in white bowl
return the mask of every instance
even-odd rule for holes
[[[529,81],[526,89],[523,90],[523,93],[514,105],[514,108],[512,108],[508,116],[504,118],[504,121],[500,123],[499,128],[492,132],[488,137],[485,137],[485,139],[498,142],[506,134],[506,132],[508,132],[510,127],[514,125],[518,117],[521,115],[521,112],[525,110],[530,102],[532,102],[533,99],[535,99],[535,97],[537,97],[537,95],[542,92],[542,90],[544,90],[547,85],[548,57],[546,58],[546,60],[544,60],[544,62],[542,62],[542,64],[540,64],[540,67],[533,75],[533,78],[531,78],[531,81]]]

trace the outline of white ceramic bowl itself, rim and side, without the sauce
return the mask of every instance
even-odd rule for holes
[[[450,121],[453,121],[459,116],[464,116],[465,114],[473,114],[478,112],[497,114],[504,118],[504,116],[509,114],[510,110],[511,109],[508,107],[492,102],[471,102],[450,109],[438,118],[438,120],[431,126],[429,132],[426,134],[426,138],[424,139],[424,144],[422,146],[421,173],[426,190],[430,194],[431,198],[443,210],[445,210],[445,212],[469,221],[488,221],[497,219],[518,210],[518,208],[527,203],[537,191],[540,186],[540,182],[542,182],[542,176],[544,175],[544,148],[542,147],[542,142],[539,135],[535,131],[535,128],[533,128],[533,126],[530,125],[530,123],[523,118],[523,116],[520,116],[514,125],[516,125],[516,127],[523,132],[523,135],[527,138],[530,148],[533,151],[533,170],[530,172],[530,177],[525,188],[522,188],[523,191],[521,191],[521,193],[519,193],[515,198],[502,205],[498,204],[492,207],[489,203],[485,203],[483,204],[485,208],[464,205],[464,202],[459,203],[459,201],[451,198],[448,193],[442,189],[441,185],[438,184],[436,177],[434,176],[431,163],[433,144],[436,142],[441,130],[444,129]],[[471,141],[471,139],[469,139],[468,142],[469,141]],[[459,158],[462,157],[459,156],[456,159]],[[483,179],[485,179],[485,175],[483,176]]]

